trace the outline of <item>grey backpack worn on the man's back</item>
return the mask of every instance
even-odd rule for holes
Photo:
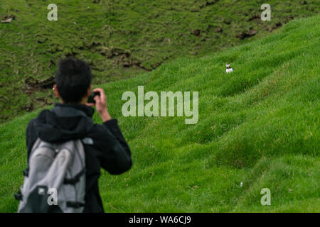
[[[85,150],[81,140],[36,140],[20,193],[18,213],[80,213],[85,205]]]

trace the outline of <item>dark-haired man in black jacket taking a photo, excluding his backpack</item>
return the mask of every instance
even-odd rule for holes
[[[28,123],[28,162],[38,138],[48,143],[82,140],[85,150],[85,204],[83,212],[103,212],[98,189],[100,168],[119,175],[132,166],[131,153],[116,119],[107,110],[103,89],[95,89],[95,104],[88,104],[92,92],[90,67],[82,60],[67,58],[58,64],[54,93],[60,99],[53,109],[44,110]],[[95,106],[102,125],[92,121]]]

